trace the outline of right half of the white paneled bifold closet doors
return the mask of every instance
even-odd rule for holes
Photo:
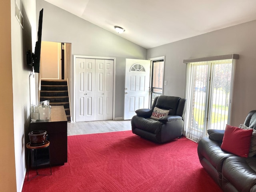
[[[96,59],[95,120],[112,120],[114,61]]]

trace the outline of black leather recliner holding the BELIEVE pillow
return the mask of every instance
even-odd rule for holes
[[[142,138],[164,143],[182,136],[186,99],[175,96],[158,96],[151,109],[138,109],[132,117],[132,132]],[[154,107],[169,110],[158,120],[150,118]]]

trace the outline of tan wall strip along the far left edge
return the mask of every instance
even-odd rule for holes
[[[11,3],[0,1],[0,190],[16,191],[12,95]],[[2,30],[4,29],[4,30]]]

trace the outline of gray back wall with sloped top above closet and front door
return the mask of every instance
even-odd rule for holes
[[[44,0],[37,0],[36,12],[42,8],[43,41],[72,43],[73,55],[116,58],[115,117],[123,117],[125,59],[146,59],[147,50]]]

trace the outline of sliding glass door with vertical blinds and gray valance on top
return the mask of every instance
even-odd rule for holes
[[[198,142],[207,136],[208,129],[224,130],[229,123],[235,58],[239,56],[184,60],[187,61],[187,138]]]

